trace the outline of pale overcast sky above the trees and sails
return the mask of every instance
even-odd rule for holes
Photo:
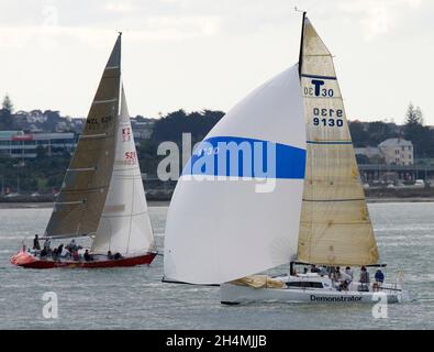
[[[298,61],[308,11],[349,120],[434,125],[432,0],[0,0],[0,98],[86,117],[122,36],[130,113],[227,111]]]

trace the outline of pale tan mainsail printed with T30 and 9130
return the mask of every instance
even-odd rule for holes
[[[308,145],[298,260],[376,264],[377,244],[333,58],[308,19],[300,58]]]

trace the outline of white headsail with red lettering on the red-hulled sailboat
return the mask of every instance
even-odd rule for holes
[[[113,174],[92,243],[92,252],[134,254],[147,252],[153,248],[154,235],[125,94],[122,89]]]

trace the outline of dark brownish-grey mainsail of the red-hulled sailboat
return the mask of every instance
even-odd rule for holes
[[[93,98],[49,219],[47,237],[97,231],[112,175],[119,116],[121,35]]]

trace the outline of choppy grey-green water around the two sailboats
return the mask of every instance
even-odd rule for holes
[[[43,232],[51,209],[0,209],[0,329],[434,329],[434,204],[372,204],[387,278],[403,270],[413,300],[375,319],[370,305],[222,306],[218,287],[163,284],[163,257],[149,267],[33,271],[9,257]],[[163,252],[167,207],[151,207]],[[43,317],[45,292],[58,318]]]

